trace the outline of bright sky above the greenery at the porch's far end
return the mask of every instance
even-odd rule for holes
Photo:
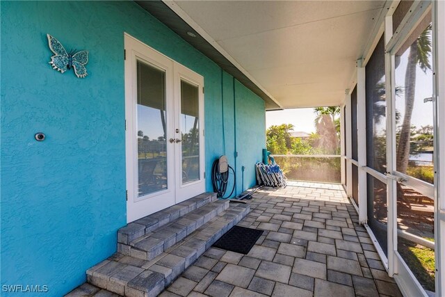
[[[292,124],[293,131],[315,132],[314,109],[286,109],[284,111],[266,111],[266,129],[272,125]]]

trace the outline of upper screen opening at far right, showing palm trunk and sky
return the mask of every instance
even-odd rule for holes
[[[431,33],[428,13],[395,55],[394,83],[397,171],[433,184]]]

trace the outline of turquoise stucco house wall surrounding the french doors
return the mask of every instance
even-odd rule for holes
[[[206,171],[224,150],[234,166],[236,143],[237,193],[241,165],[244,188],[254,184],[264,102],[136,3],[1,1],[0,10],[2,285],[47,284],[45,296],[60,296],[115,252],[126,222],[124,32],[204,77]],[[52,70],[47,33],[90,51],[86,79]]]

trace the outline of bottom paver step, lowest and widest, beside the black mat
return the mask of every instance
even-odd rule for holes
[[[196,228],[195,232],[170,247],[166,250],[168,254],[159,256],[159,259],[147,262],[116,255],[88,269],[87,280],[97,287],[122,296],[157,296],[250,211],[248,205],[234,209],[236,207],[231,207]]]

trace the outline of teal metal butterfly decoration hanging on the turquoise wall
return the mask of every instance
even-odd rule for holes
[[[73,67],[76,77],[79,77],[79,79],[86,77],[85,65],[88,63],[88,51],[78,51],[75,53],[76,49],[74,49],[74,51],[67,53],[65,47],[63,47],[56,38],[49,34],[47,34],[47,37],[49,49],[55,54],[51,57],[51,61],[49,61],[53,69],[63,73]]]

